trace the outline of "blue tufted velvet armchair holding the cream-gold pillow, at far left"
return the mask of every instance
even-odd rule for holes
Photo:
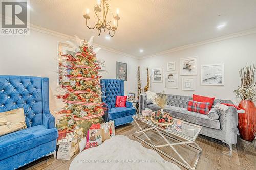
[[[1,169],[17,169],[56,153],[58,132],[49,111],[48,78],[0,76],[0,114],[17,108],[24,108],[27,128],[0,136]]]

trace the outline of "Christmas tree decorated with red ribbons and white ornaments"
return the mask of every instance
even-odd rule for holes
[[[76,48],[75,54],[59,54],[62,62],[60,69],[66,70],[68,80],[62,80],[61,94],[66,103],[65,108],[58,114],[65,114],[57,123],[59,130],[72,130],[76,126],[82,127],[84,131],[89,129],[92,123],[103,122],[105,107],[101,101],[101,90],[99,72],[102,62],[96,59],[96,51],[92,44],[93,37],[88,41],[76,37],[78,45],[69,42]]]

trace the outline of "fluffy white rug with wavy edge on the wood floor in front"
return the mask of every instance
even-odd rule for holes
[[[82,151],[71,162],[69,169],[180,170],[177,165],[165,161],[156,151],[122,135],[114,136],[98,147]]]

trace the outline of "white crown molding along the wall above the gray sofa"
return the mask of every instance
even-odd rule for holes
[[[155,54],[151,54],[151,55],[147,55],[147,56],[142,56],[139,58],[139,60],[145,59],[145,58],[150,58],[150,57],[155,57],[155,56],[159,56],[159,55],[164,55],[167,53],[172,53],[172,52],[177,52],[180,50],[185,50],[188,48],[192,48],[192,47],[196,47],[196,46],[201,46],[201,45],[205,45],[205,44],[209,44],[209,43],[214,43],[214,42],[218,42],[218,41],[223,41],[223,40],[227,40],[227,39],[231,39],[231,38],[236,38],[236,37],[241,37],[241,36],[245,36],[245,35],[249,35],[249,34],[255,34],[256,33],[256,28],[253,29],[249,29],[249,30],[245,30],[245,31],[240,31],[237,33],[233,33],[233,34],[228,34],[225,36],[221,36],[218,38],[212,38],[212,39],[208,39],[205,41],[201,41],[201,42],[196,42],[193,44],[189,44],[189,45],[184,45],[184,46],[180,46],[180,47],[176,47],[176,48],[171,48],[169,50],[165,50],[159,53],[155,53]]]

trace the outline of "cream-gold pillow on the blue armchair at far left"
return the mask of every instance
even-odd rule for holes
[[[23,108],[0,113],[0,136],[26,128]]]

